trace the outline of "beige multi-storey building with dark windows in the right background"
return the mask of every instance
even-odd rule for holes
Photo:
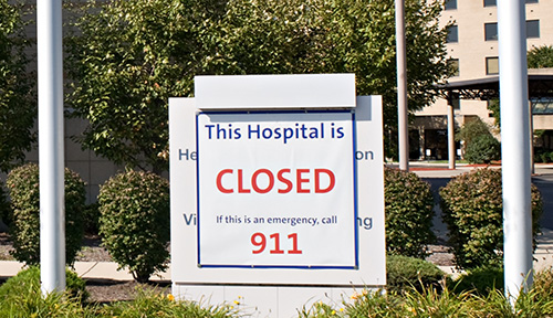
[[[460,81],[491,78],[499,75],[498,63],[498,12],[497,1],[500,0],[449,0],[442,11],[440,23],[451,23],[447,52],[451,64],[457,67],[457,74],[449,83]],[[526,0],[526,46],[528,50],[553,44],[553,0]],[[553,70],[549,70],[549,74]],[[545,71],[546,72],[546,71]],[[529,72],[529,73],[532,73]],[[546,129],[536,140],[536,147],[553,149],[553,105],[547,112],[547,104],[541,100],[534,105],[534,130]],[[493,125],[494,118],[488,110],[486,100],[453,100],[455,124],[461,127],[471,118],[480,117]],[[447,110],[445,99],[426,107],[416,114],[410,127],[411,159],[448,159]],[[542,115],[538,115],[538,114]],[[551,135],[550,135],[551,134]],[[499,136],[498,136],[499,137]],[[460,145],[457,145],[460,148]],[[457,151],[460,155],[460,151]]]

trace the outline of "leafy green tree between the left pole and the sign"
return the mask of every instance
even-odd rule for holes
[[[92,1],[66,40],[73,116],[84,148],[132,168],[168,168],[169,97],[189,96],[220,1]]]

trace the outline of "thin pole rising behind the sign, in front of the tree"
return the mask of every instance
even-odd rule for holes
[[[409,170],[409,123],[407,117],[407,50],[405,0],[396,0],[397,132],[399,169]]]

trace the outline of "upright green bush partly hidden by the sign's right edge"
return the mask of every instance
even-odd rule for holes
[[[384,172],[386,248],[392,254],[424,258],[426,246],[436,240],[430,186],[411,172]]]

